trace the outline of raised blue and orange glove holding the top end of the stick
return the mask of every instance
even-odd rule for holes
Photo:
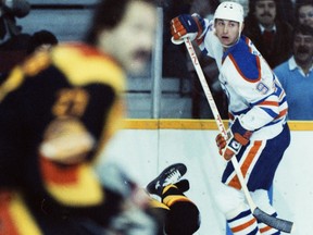
[[[200,39],[205,23],[198,14],[181,14],[171,21],[171,34],[173,44],[179,45],[184,42],[184,38],[191,41]]]

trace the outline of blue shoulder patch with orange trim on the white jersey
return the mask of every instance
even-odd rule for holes
[[[243,79],[255,83],[261,79],[260,57],[252,53],[249,39],[241,37],[238,44],[229,48],[224,58],[228,57]]]

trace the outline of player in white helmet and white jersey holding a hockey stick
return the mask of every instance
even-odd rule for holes
[[[211,22],[198,14],[181,14],[171,22],[172,40],[196,40],[201,51],[216,60],[220,82],[228,97],[231,137],[216,136],[225,160],[238,159],[255,203],[277,217],[268,190],[276,169],[290,144],[286,123],[288,104],[277,77],[253,42],[241,35],[243,10],[239,3],[222,2]],[[225,191],[216,196],[227,223],[236,235],[277,235],[252,215],[229,161],[222,176]]]

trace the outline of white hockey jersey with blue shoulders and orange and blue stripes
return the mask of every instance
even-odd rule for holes
[[[241,36],[224,51],[211,23],[199,48],[217,63],[230,121],[239,118],[245,128],[254,131],[251,140],[278,135],[286,123],[286,94],[252,41]]]

